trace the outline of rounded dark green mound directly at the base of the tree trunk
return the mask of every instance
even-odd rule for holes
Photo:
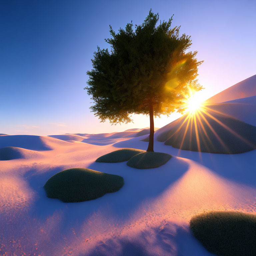
[[[136,169],[157,168],[166,164],[171,159],[171,157],[171,155],[166,153],[144,152],[133,156],[127,162],[127,165]]]

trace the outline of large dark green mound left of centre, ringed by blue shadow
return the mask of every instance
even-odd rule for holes
[[[118,191],[124,185],[121,176],[85,168],[72,168],[53,175],[44,185],[49,198],[63,202],[93,200]]]

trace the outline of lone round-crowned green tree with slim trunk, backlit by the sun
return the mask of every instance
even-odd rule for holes
[[[173,16],[172,16],[173,17]],[[87,72],[87,92],[92,95],[94,115],[101,122],[112,124],[131,122],[131,114],[146,114],[150,118],[147,151],[153,150],[154,116],[184,111],[184,99],[189,91],[199,91],[197,83],[197,51],[187,51],[190,36],[179,35],[180,27],[171,28],[151,10],[142,25],[132,21],[115,33],[110,26],[111,45],[97,48],[92,59],[93,69]]]

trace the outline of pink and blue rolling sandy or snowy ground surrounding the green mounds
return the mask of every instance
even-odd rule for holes
[[[9,137],[13,144],[12,136],[5,137],[5,143]],[[145,150],[142,137],[120,138],[103,146],[61,144],[49,137],[44,146],[51,145],[52,150],[41,151],[39,159],[1,161],[1,253],[207,256],[211,254],[189,229],[193,215],[210,210],[255,213],[256,150],[220,155],[178,150],[155,141],[156,152],[173,156],[157,169],[95,162],[118,148]],[[32,144],[24,141],[24,147],[35,147],[33,139],[26,141]],[[45,182],[74,167],[120,175],[125,184],[115,193],[81,203],[46,197]]]

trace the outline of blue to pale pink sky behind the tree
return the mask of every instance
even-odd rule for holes
[[[191,35],[199,67],[200,97],[256,74],[256,1],[0,0],[0,133],[54,135],[106,133],[149,126],[100,123],[90,112],[87,70],[97,45],[110,48],[109,25],[117,31],[141,24],[152,8],[161,20]],[[162,127],[179,115],[155,118]]]

